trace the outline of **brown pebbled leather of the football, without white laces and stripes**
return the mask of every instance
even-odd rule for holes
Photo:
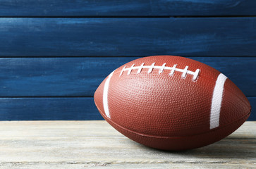
[[[142,68],[123,70],[124,66],[176,65],[178,69],[195,72],[193,75],[171,70]],[[121,75],[120,75],[121,74]],[[95,104],[102,116],[130,139],[157,149],[193,149],[217,142],[242,125],[250,113],[250,103],[243,92],[226,80],[221,103],[219,127],[209,129],[212,94],[219,71],[179,56],[150,56],[122,65],[109,81],[108,105],[110,117],[103,107],[103,90],[106,79],[95,92]],[[157,138],[157,139],[156,139]],[[173,139],[176,138],[176,139]],[[177,139],[178,138],[178,139]]]

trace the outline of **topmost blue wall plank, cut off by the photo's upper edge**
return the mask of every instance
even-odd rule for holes
[[[1,16],[255,15],[253,0],[0,1]]]

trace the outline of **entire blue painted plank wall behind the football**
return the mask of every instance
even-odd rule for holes
[[[153,55],[217,68],[256,120],[255,16],[255,0],[0,0],[0,120],[101,120],[100,82]]]

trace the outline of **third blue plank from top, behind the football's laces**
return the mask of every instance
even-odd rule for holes
[[[0,58],[0,97],[93,96],[104,78],[135,58]],[[193,57],[256,96],[256,57]]]

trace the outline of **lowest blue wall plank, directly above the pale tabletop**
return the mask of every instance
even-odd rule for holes
[[[249,97],[256,120],[256,97]],[[1,98],[0,120],[103,120],[93,98]]]

